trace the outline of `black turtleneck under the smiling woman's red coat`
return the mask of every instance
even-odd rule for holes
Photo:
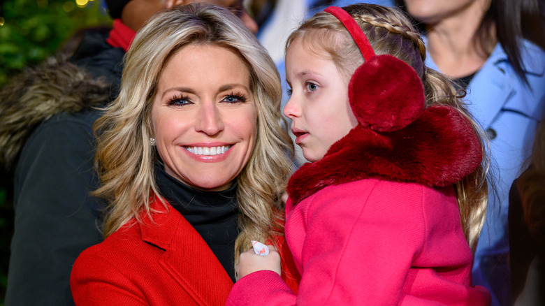
[[[202,191],[155,166],[157,187],[165,198],[201,235],[235,282],[235,240],[238,236],[237,183],[225,191]]]

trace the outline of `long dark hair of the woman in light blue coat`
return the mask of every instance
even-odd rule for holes
[[[407,13],[404,0],[394,0],[394,3]],[[487,57],[492,52],[489,46],[499,42],[516,74],[528,84],[519,44],[524,38],[545,50],[544,10],[545,5],[539,0],[491,0],[475,33],[474,42]],[[423,24],[416,24],[421,31],[424,30]],[[495,37],[491,36],[491,29],[495,30],[492,32]]]

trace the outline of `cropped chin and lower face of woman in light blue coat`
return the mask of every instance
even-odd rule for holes
[[[484,8],[488,0],[405,0],[407,12],[425,24],[436,24],[449,17],[465,16],[474,8]]]

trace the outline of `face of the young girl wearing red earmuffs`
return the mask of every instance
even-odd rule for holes
[[[318,161],[357,124],[348,101],[346,76],[325,54],[312,52],[301,39],[286,52],[291,97],[284,115],[291,119],[296,144],[308,161]]]

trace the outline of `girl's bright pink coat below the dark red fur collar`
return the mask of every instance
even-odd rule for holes
[[[296,295],[254,272],[227,305],[488,305],[471,286],[472,252],[452,187],[365,179],[286,208],[286,242],[302,275]]]

